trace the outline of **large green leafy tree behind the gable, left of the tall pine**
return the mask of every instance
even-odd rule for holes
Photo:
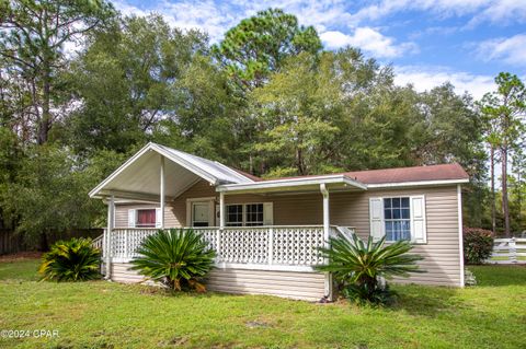
[[[79,152],[126,152],[187,103],[178,81],[206,50],[198,32],[171,28],[161,15],[129,16],[93,32],[69,80],[80,105],[68,129]]]

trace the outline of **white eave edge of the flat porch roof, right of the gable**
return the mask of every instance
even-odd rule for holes
[[[361,182],[348,178],[345,175],[320,176],[308,178],[274,179],[254,182],[248,184],[226,184],[216,187],[219,193],[275,193],[281,190],[296,190],[302,187],[313,187],[320,184],[344,185],[358,190],[367,190],[367,186]],[[318,189],[319,190],[319,189]]]

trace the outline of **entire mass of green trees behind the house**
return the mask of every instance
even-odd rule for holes
[[[483,228],[494,149],[512,168],[510,195],[494,201],[508,200],[508,225],[525,229],[525,96],[513,74],[480,103],[451,84],[418,92],[357,48],[324,50],[278,9],[210,45],[104,1],[1,7],[0,220],[30,240],[103,222],[87,193],[149,140],[263,177],[458,162],[473,179],[465,222]],[[505,216],[495,210],[502,229]]]

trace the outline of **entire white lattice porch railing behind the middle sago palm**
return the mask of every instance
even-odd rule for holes
[[[325,244],[322,225],[272,225],[194,228],[217,253],[220,267],[304,270],[323,264],[318,248]],[[113,229],[110,251],[113,261],[128,261],[137,256],[142,240],[157,229]],[[331,226],[334,232],[335,228]],[[106,249],[106,248],[104,248]],[[105,255],[105,253],[104,253]],[[105,255],[105,257],[107,257]]]

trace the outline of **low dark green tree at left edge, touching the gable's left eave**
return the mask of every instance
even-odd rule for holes
[[[54,232],[100,226],[104,205],[88,193],[123,161],[114,152],[101,152],[88,162],[53,143],[31,146],[1,196],[2,210],[30,245],[46,251]]]

